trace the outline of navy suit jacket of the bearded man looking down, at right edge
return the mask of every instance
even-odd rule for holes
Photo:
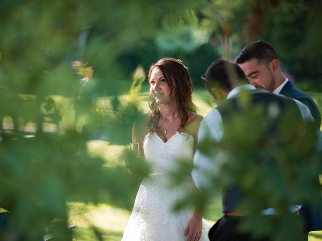
[[[290,81],[285,84],[280,94],[296,99],[305,104],[310,109],[317,127],[320,127],[321,114],[311,96],[299,90],[298,88],[295,88]],[[307,203],[304,203],[302,208],[300,209],[300,216],[304,221],[306,231],[309,232],[322,230],[322,207],[312,208]]]

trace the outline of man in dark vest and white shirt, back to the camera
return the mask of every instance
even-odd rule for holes
[[[202,79],[218,107],[200,124],[192,177],[206,196],[211,196],[216,185],[223,190],[224,215],[210,229],[209,239],[271,241],[285,235],[280,240],[303,240],[297,216],[300,206],[294,192],[283,189],[288,181],[278,163],[282,157],[286,169],[298,170],[312,152],[314,138],[310,137],[315,136],[316,127],[309,109],[294,99],[243,85],[247,82],[243,70],[225,60],[216,60]],[[292,176],[292,184],[300,185],[301,177],[295,173]],[[250,178],[255,178],[252,184]],[[280,205],[272,202],[276,198],[283,200]],[[292,233],[281,231],[285,217],[295,229]],[[273,223],[275,231],[253,236],[260,226],[254,220]],[[240,232],[240,223],[244,222],[252,223],[253,232]]]

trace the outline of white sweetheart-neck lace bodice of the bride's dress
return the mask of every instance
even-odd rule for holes
[[[157,133],[147,134],[143,149],[145,161],[150,165],[151,174],[164,174],[174,171],[179,160],[192,161],[193,136],[176,132],[167,142]]]

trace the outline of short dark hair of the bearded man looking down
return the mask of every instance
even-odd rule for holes
[[[278,59],[276,50],[269,43],[257,40],[246,45],[236,57],[237,64],[243,64],[252,59],[257,59],[258,64],[268,64],[273,59]]]

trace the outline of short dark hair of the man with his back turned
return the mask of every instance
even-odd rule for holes
[[[246,81],[243,70],[237,64],[224,59],[217,59],[213,62],[204,77],[209,82],[208,86],[206,84],[207,88],[217,87],[226,91],[230,91],[240,85],[240,82]]]

